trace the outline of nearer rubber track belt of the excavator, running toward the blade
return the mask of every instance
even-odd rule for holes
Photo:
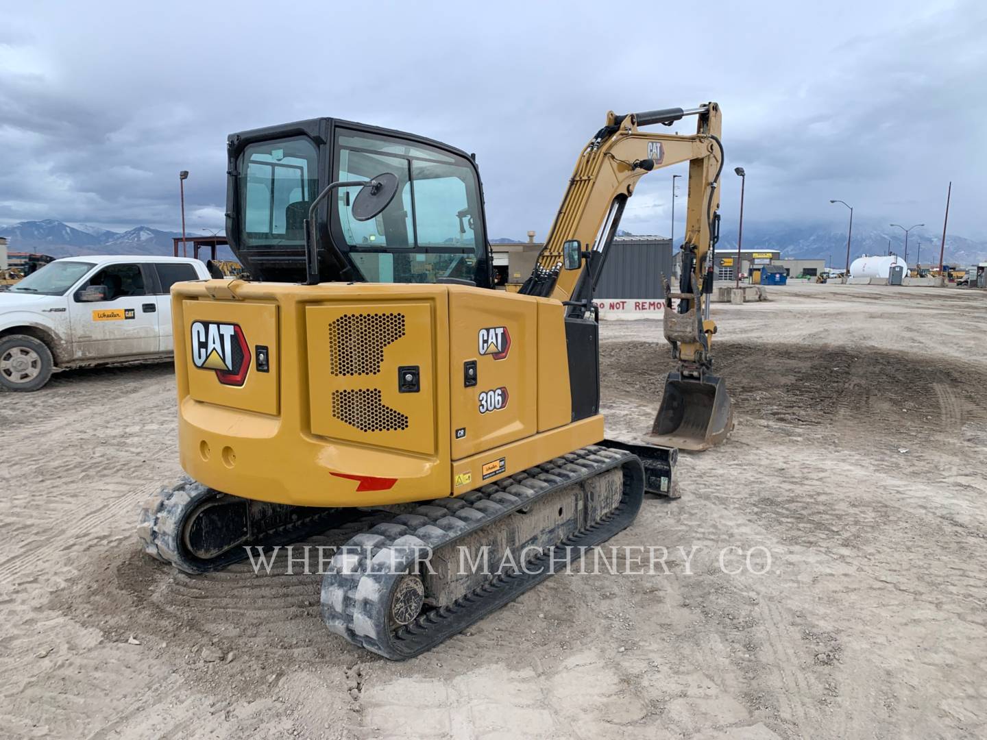
[[[350,642],[391,660],[428,650],[552,574],[547,567],[551,555],[543,553],[527,563],[526,569],[534,572],[497,575],[451,606],[424,611],[410,625],[392,629],[389,609],[394,589],[428,549],[449,547],[553,491],[617,467],[624,472],[623,497],[617,507],[557,545],[572,548],[571,559],[575,559],[579,548],[609,540],[637,516],[645,473],[641,460],[631,453],[585,447],[458,498],[435,499],[356,535],[334,556],[323,577],[323,622]],[[556,558],[554,564],[560,562]]]

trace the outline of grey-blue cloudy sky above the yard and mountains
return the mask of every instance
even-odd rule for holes
[[[985,3],[473,5],[0,0],[0,224],[175,230],[187,169],[220,228],[226,134],[332,115],[476,152],[490,235],[541,238],[606,111],[713,100],[724,227],[740,165],[745,220],[941,224],[951,180],[950,233],[987,235]],[[625,228],[668,233],[674,172]]]

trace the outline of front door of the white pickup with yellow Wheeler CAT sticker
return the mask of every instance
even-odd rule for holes
[[[108,264],[73,294],[69,303],[74,356],[104,359],[158,352],[158,305],[148,267],[136,263]],[[92,285],[106,288],[104,301],[84,302]]]

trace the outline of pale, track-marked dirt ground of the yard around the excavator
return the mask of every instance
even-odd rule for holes
[[[169,365],[3,395],[0,736],[987,735],[987,294],[771,297],[715,310],[728,443],[612,541],[668,572],[557,575],[405,663],[332,636],[318,576],[138,551],[141,500],[180,474]],[[602,336],[633,437],[667,346],[655,322]]]

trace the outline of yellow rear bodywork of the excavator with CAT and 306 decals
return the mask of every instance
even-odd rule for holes
[[[569,423],[564,313],[552,299],[457,285],[209,280],[173,286],[172,308],[177,336],[193,321],[235,323],[253,359],[259,344],[269,353],[267,373],[254,362],[231,388],[195,366],[190,340],[176,342],[182,466],[218,490],[309,506],[419,501],[603,438],[601,416]],[[495,334],[481,330],[499,327],[510,347],[497,360]],[[478,362],[473,387],[468,360]],[[418,368],[417,392],[399,392],[407,366]],[[506,407],[480,413],[479,394],[494,386],[507,389]],[[334,402],[342,391],[361,392],[348,411]],[[394,412],[383,422],[382,406]]]

